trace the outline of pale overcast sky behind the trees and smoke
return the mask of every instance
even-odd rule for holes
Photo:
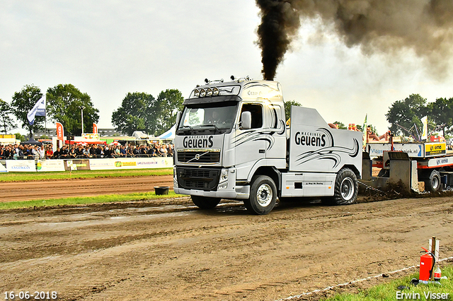
[[[99,128],[129,92],[157,97],[234,75],[262,79],[255,1],[0,0],[0,99],[24,85],[71,83],[91,96]],[[410,51],[365,56],[316,20],[304,21],[277,69],[285,100],[314,107],[326,122],[377,126],[396,100],[413,93],[452,98],[451,73],[428,70]],[[322,34],[321,34],[322,33]],[[445,61],[445,64],[449,64]],[[53,127],[55,125],[49,125]]]

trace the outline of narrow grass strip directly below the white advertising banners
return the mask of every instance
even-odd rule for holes
[[[74,170],[72,172],[1,172],[0,182],[40,181],[45,179],[88,179],[94,177],[143,177],[173,175],[172,168],[146,170]]]

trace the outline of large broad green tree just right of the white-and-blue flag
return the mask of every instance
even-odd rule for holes
[[[47,110],[50,118],[60,122],[64,131],[74,136],[82,134],[82,110],[84,114],[84,132],[93,132],[93,122],[99,120],[99,110],[93,107],[91,98],[71,84],[59,84],[47,89]]]

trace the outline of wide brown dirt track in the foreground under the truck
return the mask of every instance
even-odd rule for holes
[[[441,257],[453,256],[452,222],[449,197],[283,203],[268,216],[250,216],[241,203],[226,201],[199,211],[185,198],[3,211],[0,293],[277,300],[416,265],[432,235],[441,239]]]

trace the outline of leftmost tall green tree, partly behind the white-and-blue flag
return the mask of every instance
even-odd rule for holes
[[[22,123],[22,128],[27,129],[30,133],[30,138],[33,136],[34,131],[43,129],[42,123],[45,117],[35,117],[35,122],[30,124],[28,122],[27,114],[33,109],[36,102],[42,98],[41,89],[36,85],[25,85],[20,92],[15,92],[11,107],[13,113]]]

